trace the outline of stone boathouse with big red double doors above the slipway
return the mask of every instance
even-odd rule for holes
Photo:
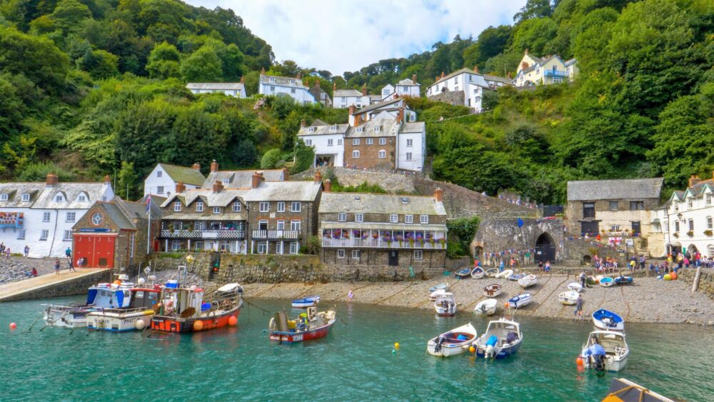
[[[72,227],[74,263],[85,268],[129,268],[158,246],[161,208],[151,203],[151,231],[146,203],[96,201]]]

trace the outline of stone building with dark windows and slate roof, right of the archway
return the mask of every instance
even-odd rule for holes
[[[573,236],[620,243],[630,236],[648,238],[658,208],[662,178],[568,181],[566,226]]]

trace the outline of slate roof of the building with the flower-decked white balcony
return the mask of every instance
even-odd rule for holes
[[[356,199],[357,197],[358,199]],[[402,199],[406,199],[406,203]],[[319,213],[340,212],[446,216],[443,202],[437,202],[433,196],[323,192]],[[418,219],[416,216],[415,222],[418,222]]]

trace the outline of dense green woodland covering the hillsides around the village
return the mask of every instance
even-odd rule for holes
[[[500,89],[490,111],[411,99],[427,121],[436,179],[495,194],[563,202],[572,179],[665,177],[681,188],[714,170],[714,1],[528,0],[511,26],[341,76],[276,62],[231,10],[175,0],[0,0],[0,176],[119,177],[136,198],[157,161],[223,168],[288,166],[311,149],[301,119],[346,111],[286,99],[194,96],[187,81],[237,81],[258,71],[371,91],[417,74],[422,88],[462,67],[506,76],[523,51],[576,57],[572,84]],[[444,117],[444,121],[439,121]]]

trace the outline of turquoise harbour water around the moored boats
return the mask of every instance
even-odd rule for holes
[[[79,301],[81,298],[53,299]],[[26,333],[44,301],[0,309],[0,400],[490,400],[599,401],[615,376],[670,398],[714,400],[714,331],[628,323],[632,353],[618,374],[578,371],[590,321],[517,318],[525,340],[516,356],[484,361],[428,356],[428,338],[484,318],[462,313],[338,304],[338,322],[318,341],[270,343],[270,319],[243,308],[235,328],[186,335],[88,334],[85,328]],[[288,301],[253,301],[270,311]],[[326,307],[326,305],[323,305]],[[10,331],[8,324],[18,328]],[[392,353],[393,343],[401,348]]]

